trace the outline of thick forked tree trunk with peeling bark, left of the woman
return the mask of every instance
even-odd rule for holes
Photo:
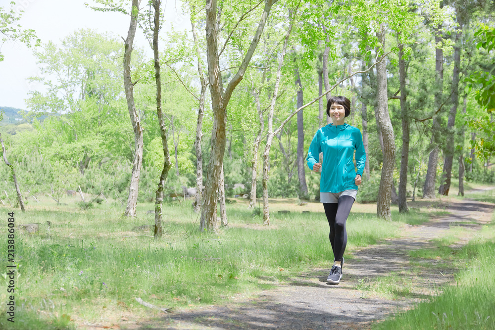
[[[276,0],[265,0],[263,14],[257,26],[256,33],[237,73],[229,82],[224,91],[220,72],[218,55],[216,13],[217,0],[206,1],[206,58],[208,62],[208,79],[213,110],[213,131],[211,134],[211,153],[208,166],[208,176],[204,191],[204,203],[201,211],[199,230],[205,228],[216,232],[216,206],[218,200],[218,186],[220,184],[223,157],[225,153],[227,112],[226,108],[236,86],[243,79],[247,66],[256,49],[271,7]]]

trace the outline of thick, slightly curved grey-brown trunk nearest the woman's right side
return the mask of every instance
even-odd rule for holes
[[[385,49],[385,27],[382,24],[380,32],[377,33],[382,49]],[[380,49],[377,49],[377,53]],[[387,64],[381,60],[376,65],[377,75],[377,108],[378,123],[383,137],[383,166],[380,187],[377,198],[377,217],[386,220],[391,219],[390,198],[393,184],[395,167],[396,144],[394,140],[394,129],[390,121],[389,106],[387,104]]]

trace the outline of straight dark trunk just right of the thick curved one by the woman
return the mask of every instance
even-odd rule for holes
[[[402,153],[400,156],[400,177],[399,177],[399,194],[398,204],[399,212],[406,213],[407,200],[407,163],[409,160],[409,116],[407,106],[407,91],[405,87],[406,71],[405,60],[403,59],[404,51],[403,46],[399,45],[399,80],[400,80],[400,117],[402,119]]]

